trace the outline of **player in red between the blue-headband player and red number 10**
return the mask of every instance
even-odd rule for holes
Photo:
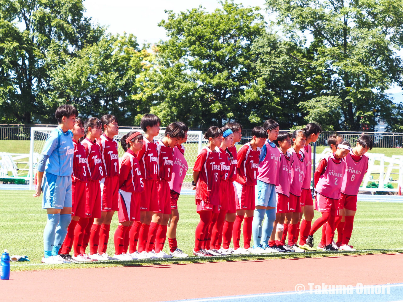
[[[237,164],[238,164],[238,156],[237,156],[237,147],[235,147],[235,143],[239,143],[242,138],[242,126],[237,122],[229,122],[225,125],[225,127],[232,130],[234,134],[234,142],[231,147],[227,148],[227,153],[231,157],[230,162],[230,173],[228,177],[228,209],[225,215],[224,225],[222,227],[222,234],[218,237],[218,244],[216,249],[218,252],[224,255],[229,255],[234,252],[232,248],[229,247],[232,240],[232,231],[234,227],[234,222],[236,218],[236,209],[235,209],[235,195],[236,189],[234,186],[234,181],[237,178]],[[230,154],[231,153],[231,154]],[[221,247],[221,238],[222,238],[222,248]]]

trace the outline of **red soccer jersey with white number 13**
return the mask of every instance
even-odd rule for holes
[[[193,171],[199,171],[199,178],[196,184],[197,199],[210,203],[220,204],[220,155],[204,147],[197,155]]]

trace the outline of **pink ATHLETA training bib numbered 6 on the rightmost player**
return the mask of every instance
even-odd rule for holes
[[[359,161],[355,161],[353,157],[351,157],[351,153],[352,151],[343,158],[343,161],[346,164],[346,172],[343,176],[341,192],[355,196],[358,194],[359,187],[361,186],[361,182],[367,171],[369,157],[364,154]]]

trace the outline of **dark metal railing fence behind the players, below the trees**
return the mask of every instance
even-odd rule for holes
[[[31,139],[31,127],[55,127],[57,125],[6,125],[0,124],[0,140],[30,140]],[[139,129],[137,126],[120,126],[123,129]],[[193,130],[193,129],[192,129]],[[198,129],[201,130],[201,129]],[[244,129],[242,131],[241,143],[247,143],[251,139],[250,129]],[[291,130],[285,130],[292,132]],[[317,146],[327,146],[327,139],[332,134],[338,134],[345,140],[349,141],[351,145],[354,145],[357,139],[363,135],[369,135],[374,141],[374,147],[376,148],[401,148],[403,147],[403,133],[393,132],[354,132],[354,131],[339,131],[339,132],[323,132],[318,141]]]

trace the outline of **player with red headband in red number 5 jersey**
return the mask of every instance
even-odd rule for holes
[[[140,193],[144,191],[144,186],[136,153],[143,149],[143,135],[138,131],[131,131],[123,135],[120,145],[125,154],[119,165],[119,225],[114,235],[113,257],[118,260],[132,260],[137,259],[137,252],[128,254],[127,247],[126,252],[124,249],[125,242],[134,244],[134,238],[129,238],[129,228],[133,221],[140,222]]]

